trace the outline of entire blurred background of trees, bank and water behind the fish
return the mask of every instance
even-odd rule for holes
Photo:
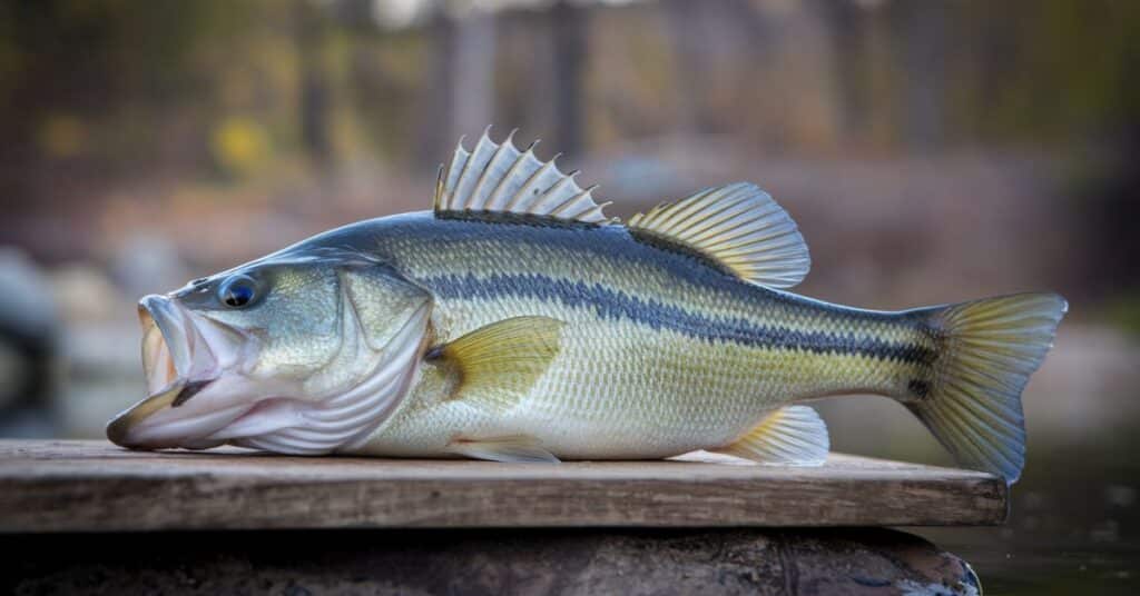
[[[1135,586],[1125,0],[0,1],[0,435],[101,438],[144,393],[139,296],[427,209],[491,123],[611,214],[759,183],[814,297],[1061,292],[1010,524],[927,533],[999,591]],[[888,400],[822,409],[838,450],[950,463]]]

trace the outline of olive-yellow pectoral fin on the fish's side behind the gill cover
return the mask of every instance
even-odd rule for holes
[[[426,359],[453,367],[458,378],[451,399],[505,411],[559,353],[563,325],[549,317],[505,319],[430,350]]]

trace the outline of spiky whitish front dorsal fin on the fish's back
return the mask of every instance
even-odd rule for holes
[[[459,139],[447,169],[440,169],[435,185],[435,215],[456,219],[503,219],[516,215],[562,222],[605,224],[610,220],[591,196],[596,186],[581,188],[575,182],[578,172],[564,174],[554,165],[559,158],[543,162],[535,157],[532,142],[527,150],[514,146],[514,131],[496,144],[490,128],[483,131],[474,149],[467,152]]]

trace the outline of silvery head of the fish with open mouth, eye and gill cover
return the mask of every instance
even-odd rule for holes
[[[295,254],[145,296],[147,398],[107,436],[135,449],[334,451],[407,392],[430,304],[382,263]]]

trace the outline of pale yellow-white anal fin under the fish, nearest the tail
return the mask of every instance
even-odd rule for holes
[[[735,442],[712,451],[762,464],[820,466],[828,458],[828,426],[807,406],[788,406],[768,414]]]

